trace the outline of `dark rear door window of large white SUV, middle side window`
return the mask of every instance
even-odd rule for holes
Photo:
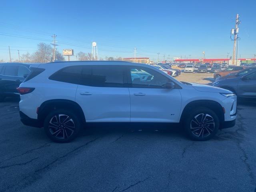
[[[91,86],[124,87],[124,67],[115,65],[92,66]]]

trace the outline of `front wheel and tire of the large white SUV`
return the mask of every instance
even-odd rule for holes
[[[211,139],[220,127],[220,121],[216,113],[205,107],[197,108],[188,114],[184,120],[186,134],[196,141]]]

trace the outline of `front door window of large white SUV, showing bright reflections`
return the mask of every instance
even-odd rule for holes
[[[170,80],[159,72],[140,67],[130,68],[133,88],[164,88]]]

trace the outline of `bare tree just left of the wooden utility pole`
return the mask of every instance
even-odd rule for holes
[[[52,60],[52,47],[46,43],[39,43],[37,51],[32,55],[33,62],[46,63]]]

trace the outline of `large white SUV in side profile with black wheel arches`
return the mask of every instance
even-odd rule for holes
[[[20,118],[68,142],[90,122],[181,123],[194,140],[234,126],[236,95],[179,82],[154,66],[130,62],[54,62],[33,65],[17,88]]]

